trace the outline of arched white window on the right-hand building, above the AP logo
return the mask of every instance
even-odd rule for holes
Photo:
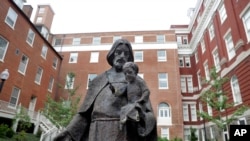
[[[232,88],[234,104],[238,105],[238,104],[242,103],[240,86],[239,86],[238,78],[235,75],[232,76],[232,78],[231,78],[231,88]]]

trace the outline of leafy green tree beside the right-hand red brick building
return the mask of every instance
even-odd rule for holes
[[[215,116],[209,115],[208,112],[198,112],[198,116],[215,123],[220,131],[228,129],[228,125],[232,123],[237,117],[244,114],[248,109],[245,105],[238,105],[235,111],[228,116],[226,111],[229,108],[234,108],[235,103],[229,103],[227,93],[223,90],[223,85],[228,82],[228,78],[222,78],[216,72],[215,68],[211,69],[210,81],[206,81],[206,84],[210,86],[201,94],[201,101],[208,104],[215,113]],[[226,118],[223,118],[226,114]]]

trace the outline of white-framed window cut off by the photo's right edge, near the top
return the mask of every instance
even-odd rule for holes
[[[250,42],[250,7],[248,7],[246,12],[242,16],[242,21],[243,21],[243,24],[244,24],[247,40],[248,40],[248,43],[249,43]]]

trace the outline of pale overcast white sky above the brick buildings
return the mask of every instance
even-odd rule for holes
[[[188,24],[187,11],[197,0],[27,0],[55,12],[52,33],[167,30]],[[31,20],[33,21],[34,15]]]

